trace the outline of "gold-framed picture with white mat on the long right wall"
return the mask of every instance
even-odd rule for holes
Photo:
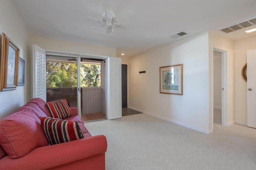
[[[183,95],[182,65],[160,67],[160,93]]]

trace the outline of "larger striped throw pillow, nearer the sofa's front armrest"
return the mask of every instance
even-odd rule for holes
[[[76,121],[40,117],[41,126],[50,145],[74,141],[84,138],[82,130]]]

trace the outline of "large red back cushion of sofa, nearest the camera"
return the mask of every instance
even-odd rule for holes
[[[18,158],[49,144],[40,119],[32,110],[21,108],[0,121],[0,145],[10,158]]]

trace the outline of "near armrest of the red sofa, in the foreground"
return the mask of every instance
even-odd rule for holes
[[[104,135],[97,135],[57,145],[39,147],[20,158],[6,156],[0,160],[0,167],[4,170],[49,169],[90,156],[104,154],[106,150],[106,137]]]

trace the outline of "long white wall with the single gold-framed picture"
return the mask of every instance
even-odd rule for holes
[[[210,133],[208,41],[208,32],[201,33],[131,57],[128,106]],[[173,64],[183,64],[183,96],[160,94],[159,67]]]

